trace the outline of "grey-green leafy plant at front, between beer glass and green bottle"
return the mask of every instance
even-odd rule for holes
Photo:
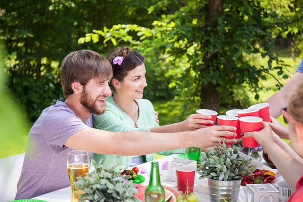
[[[78,177],[75,187],[83,190],[78,201],[139,201],[133,197],[137,193],[132,181],[127,181],[131,176],[121,176],[121,166],[112,165],[104,169],[92,160],[95,170],[87,173],[84,178]]]

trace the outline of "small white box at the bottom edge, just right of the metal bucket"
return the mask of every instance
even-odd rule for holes
[[[271,184],[246,184],[246,202],[279,202],[279,191]]]

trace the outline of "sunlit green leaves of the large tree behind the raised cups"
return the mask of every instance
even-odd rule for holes
[[[214,96],[220,96],[220,102],[214,103],[218,107],[234,103],[237,95],[243,94],[238,89],[246,86],[258,100],[258,93],[264,89],[262,80],[276,79],[276,73],[287,77],[286,65],[273,52],[276,35],[286,22],[275,20],[278,15],[273,10],[266,10],[259,1],[229,0],[224,1],[221,14],[214,14],[208,10],[208,1],[183,3],[173,5],[175,11],[161,15],[151,28],[117,24],[94,33],[102,35],[104,42],[115,39],[117,43],[131,43],[149,58],[151,66],[162,68],[165,76],[172,78],[169,86],[175,89],[184,110],[192,101],[211,102],[212,96],[203,94],[210,84],[215,87]],[[161,1],[148,11],[163,13],[171,4]],[[139,40],[130,35],[133,32]],[[254,64],[259,57],[268,60],[266,66]]]

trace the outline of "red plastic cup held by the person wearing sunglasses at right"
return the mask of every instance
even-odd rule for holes
[[[241,117],[239,118],[241,133],[254,132],[261,130],[262,119],[260,117]],[[257,147],[259,143],[254,137],[242,137],[242,146]]]

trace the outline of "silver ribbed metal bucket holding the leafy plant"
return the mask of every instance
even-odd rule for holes
[[[219,181],[208,179],[211,202],[237,202],[241,180]],[[225,200],[224,200],[224,199]]]

